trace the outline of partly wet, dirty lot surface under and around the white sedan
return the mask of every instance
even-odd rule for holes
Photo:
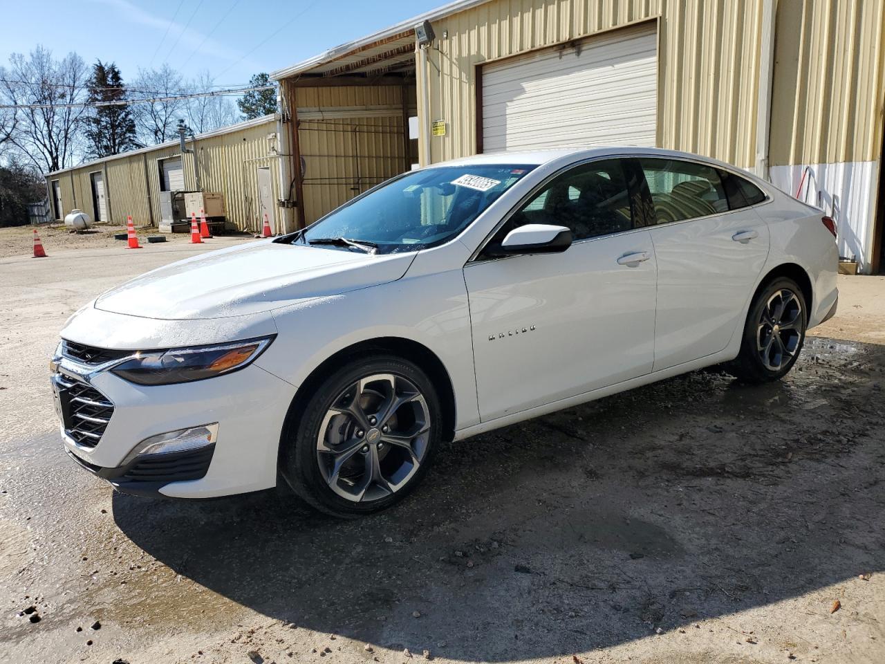
[[[885,661],[880,278],[840,280],[781,382],[696,372],[449,444],[360,521],[114,494],[62,451],[58,329],[223,242],[0,259],[0,661]]]

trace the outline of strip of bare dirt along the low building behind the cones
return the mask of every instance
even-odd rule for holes
[[[12,228],[0,228],[0,259],[33,256],[35,228],[37,235],[40,236],[43,250],[50,256],[55,251],[107,249],[126,246],[124,240],[114,239],[115,233],[126,233],[125,226],[97,224],[80,233],[73,232],[64,224],[37,227],[15,226]],[[190,242],[190,235],[187,233],[159,233],[157,228],[135,228],[135,233],[138,235],[138,242],[142,245],[147,243],[148,235],[164,235],[166,243]]]

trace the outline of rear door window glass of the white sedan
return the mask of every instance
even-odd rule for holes
[[[728,212],[720,172],[681,159],[639,159],[658,224]]]

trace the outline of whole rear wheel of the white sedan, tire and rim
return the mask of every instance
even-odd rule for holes
[[[727,368],[746,382],[770,382],[787,374],[805,342],[808,315],[802,290],[781,277],[760,290],[750,304],[741,352]]]

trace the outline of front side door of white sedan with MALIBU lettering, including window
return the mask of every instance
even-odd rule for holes
[[[637,182],[618,159],[573,166],[519,205],[490,243],[522,224],[566,226],[562,253],[464,268],[482,421],[651,370],[656,263]]]

